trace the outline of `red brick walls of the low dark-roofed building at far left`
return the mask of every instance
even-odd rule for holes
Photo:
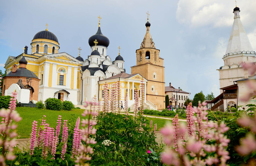
[[[5,90],[8,89],[12,84],[16,84],[19,79],[22,79],[22,84],[24,86],[26,86],[27,83],[27,77],[4,77],[4,81],[3,81],[3,87],[5,86]],[[36,78],[31,78],[31,87],[34,88],[34,93],[32,96],[32,91],[30,90],[30,97],[29,100],[38,100],[38,90],[39,90],[39,82],[40,79],[36,79]],[[29,86],[30,86],[30,82],[29,82]],[[4,89],[3,89],[4,90]],[[2,96],[4,96],[4,91]]]

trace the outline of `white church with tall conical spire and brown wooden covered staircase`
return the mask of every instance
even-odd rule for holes
[[[220,75],[220,95],[208,102],[212,104],[212,110],[227,111],[229,107],[255,104],[255,99],[244,102],[243,97],[248,92],[246,83],[256,83],[256,73],[248,73],[242,63],[255,65],[256,53],[240,20],[240,9],[235,7],[233,13],[234,23],[226,53],[222,57],[224,65],[217,69]]]

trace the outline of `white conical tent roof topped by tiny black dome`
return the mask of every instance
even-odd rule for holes
[[[236,7],[233,12],[235,14],[234,23],[231,29],[226,55],[238,51],[253,51],[252,45],[240,20],[239,12],[239,8]]]

